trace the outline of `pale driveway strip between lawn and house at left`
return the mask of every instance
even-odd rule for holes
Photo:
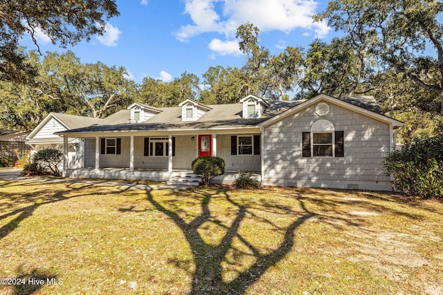
[[[21,176],[21,169],[0,169],[0,180],[15,180],[15,181],[33,181],[33,182],[48,182],[48,183],[69,183],[69,184],[93,184],[104,187],[134,187],[136,189],[147,189],[149,191],[154,189],[190,189],[195,188],[190,184],[168,184],[159,182],[159,184],[138,184],[133,182],[117,182],[112,180],[82,180],[76,178],[46,178],[43,176]]]

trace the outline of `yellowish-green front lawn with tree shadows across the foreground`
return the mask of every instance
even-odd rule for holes
[[[442,294],[442,221],[364,191],[0,181],[0,278],[26,282],[0,294]]]

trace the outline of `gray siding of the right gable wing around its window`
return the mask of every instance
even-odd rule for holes
[[[390,189],[383,160],[390,149],[390,126],[341,106],[329,104],[318,116],[310,106],[264,129],[264,185]],[[345,157],[302,157],[302,132],[317,120],[344,131]]]

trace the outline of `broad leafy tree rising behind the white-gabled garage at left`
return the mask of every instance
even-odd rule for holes
[[[105,117],[127,107],[136,91],[122,66],[82,64],[71,51],[48,53],[43,64],[44,81],[64,102],[66,113]]]

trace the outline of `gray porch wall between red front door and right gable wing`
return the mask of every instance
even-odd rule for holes
[[[233,134],[236,135],[236,134]],[[230,136],[217,135],[217,155],[225,162],[226,171],[260,172],[260,155],[231,155]]]

